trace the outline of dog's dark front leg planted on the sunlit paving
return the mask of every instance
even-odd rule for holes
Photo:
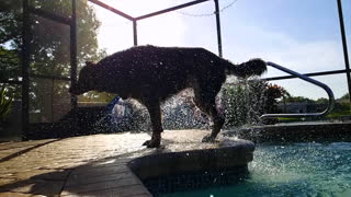
[[[158,101],[147,102],[146,107],[150,114],[151,126],[152,126],[152,137],[150,140],[147,140],[143,143],[143,146],[147,146],[147,148],[158,148],[161,143],[161,132],[162,123],[161,123],[161,108]]]

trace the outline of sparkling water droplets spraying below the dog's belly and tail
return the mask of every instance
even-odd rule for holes
[[[217,95],[217,108],[225,115],[225,129],[256,125],[267,109],[267,82],[259,79],[226,83]],[[161,105],[163,129],[208,129],[210,118],[193,102],[193,91],[186,89]],[[134,100],[118,100],[116,105],[97,121],[97,132],[151,130],[149,114]]]

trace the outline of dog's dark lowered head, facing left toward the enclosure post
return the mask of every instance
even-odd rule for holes
[[[95,86],[94,79],[95,79],[97,72],[95,72],[94,68],[97,66],[90,61],[87,61],[86,63],[87,63],[87,66],[80,70],[77,84],[69,89],[69,92],[71,94],[79,95],[79,94],[82,94],[82,93],[86,93],[88,91],[93,90]]]

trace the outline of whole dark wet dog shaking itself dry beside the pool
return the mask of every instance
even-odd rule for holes
[[[115,53],[98,63],[87,62],[72,94],[88,91],[110,92],[123,100],[132,97],[144,104],[151,118],[152,137],[144,144],[157,148],[161,141],[160,103],[192,88],[194,103],[207,114],[213,128],[204,142],[214,141],[225,119],[216,109],[215,97],[227,74],[260,76],[267,70],[261,59],[234,65],[204,48],[137,46]]]

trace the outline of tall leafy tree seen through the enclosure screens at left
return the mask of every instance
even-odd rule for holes
[[[22,34],[22,0],[1,0],[0,9],[0,80],[16,79],[20,71],[21,34]],[[30,5],[69,18],[70,0],[30,0]],[[69,26],[47,19],[30,15],[31,23],[31,74],[48,77],[69,77]],[[86,60],[99,60],[105,56],[98,48],[97,30],[100,26],[93,8],[87,0],[77,0],[77,40],[78,66]],[[31,111],[49,111],[49,103],[69,102],[69,82],[31,78]],[[69,105],[68,105],[69,106]]]

